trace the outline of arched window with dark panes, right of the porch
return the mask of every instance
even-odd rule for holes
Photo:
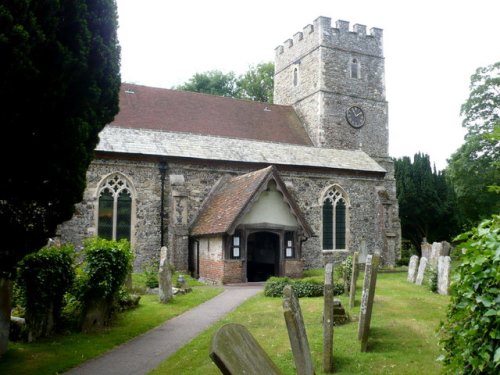
[[[323,250],[345,250],[347,229],[346,198],[337,188],[323,198]]]

